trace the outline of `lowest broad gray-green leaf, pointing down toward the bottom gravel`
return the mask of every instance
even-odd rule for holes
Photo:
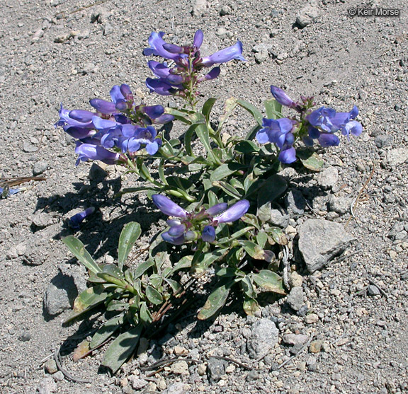
[[[140,324],[120,334],[106,350],[102,365],[110,368],[112,373],[116,373],[135,351],[140,340],[142,327]]]

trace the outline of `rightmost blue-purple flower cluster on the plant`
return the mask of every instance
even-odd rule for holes
[[[323,147],[338,146],[339,137],[336,132],[349,138],[350,134],[358,136],[363,127],[354,120],[358,109],[354,105],[350,112],[336,112],[333,108],[321,107],[311,110],[314,106],[312,98],[303,98],[302,103],[295,103],[286,93],[276,86],[271,86],[273,97],[285,107],[293,108],[300,114],[300,120],[283,117],[278,120],[263,119],[262,128],[256,134],[261,144],[270,142],[279,149],[278,159],[282,163],[293,163],[296,160],[296,151],[293,145],[297,139],[307,146],[312,146],[314,139]]]

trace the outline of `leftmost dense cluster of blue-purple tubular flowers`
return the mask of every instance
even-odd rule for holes
[[[135,105],[130,87],[124,83],[113,86],[110,93],[111,101],[90,100],[94,112],[66,110],[61,105],[60,120],[55,126],[62,126],[77,139],[77,165],[88,160],[113,164],[121,155],[127,153],[132,158],[142,148],[153,155],[162,146],[162,139],[157,137],[152,124],[174,120],[164,113],[162,105]]]

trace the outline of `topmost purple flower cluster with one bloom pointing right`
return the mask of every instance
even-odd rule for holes
[[[163,36],[163,32],[153,32],[149,37],[150,47],[143,52],[147,56],[153,54],[174,62],[173,67],[166,62],[159,63],[154,60],[148,62],[149,68],[157,78],[147,78],[146,85],[151,92],[159,95],[179,95],[193,104],[197,84],[215,79],[220,75],[219,66],[213,67],[204,76],[199,75],[201,70],[212,67],[214,64],[229,62],[232,59],[245,61],[242,57],[242,42],[240,41],[208,57],[201,57],[200,46],[204,38],[201,30],[196,31],[193,45],[183,47],[166,43]]]

